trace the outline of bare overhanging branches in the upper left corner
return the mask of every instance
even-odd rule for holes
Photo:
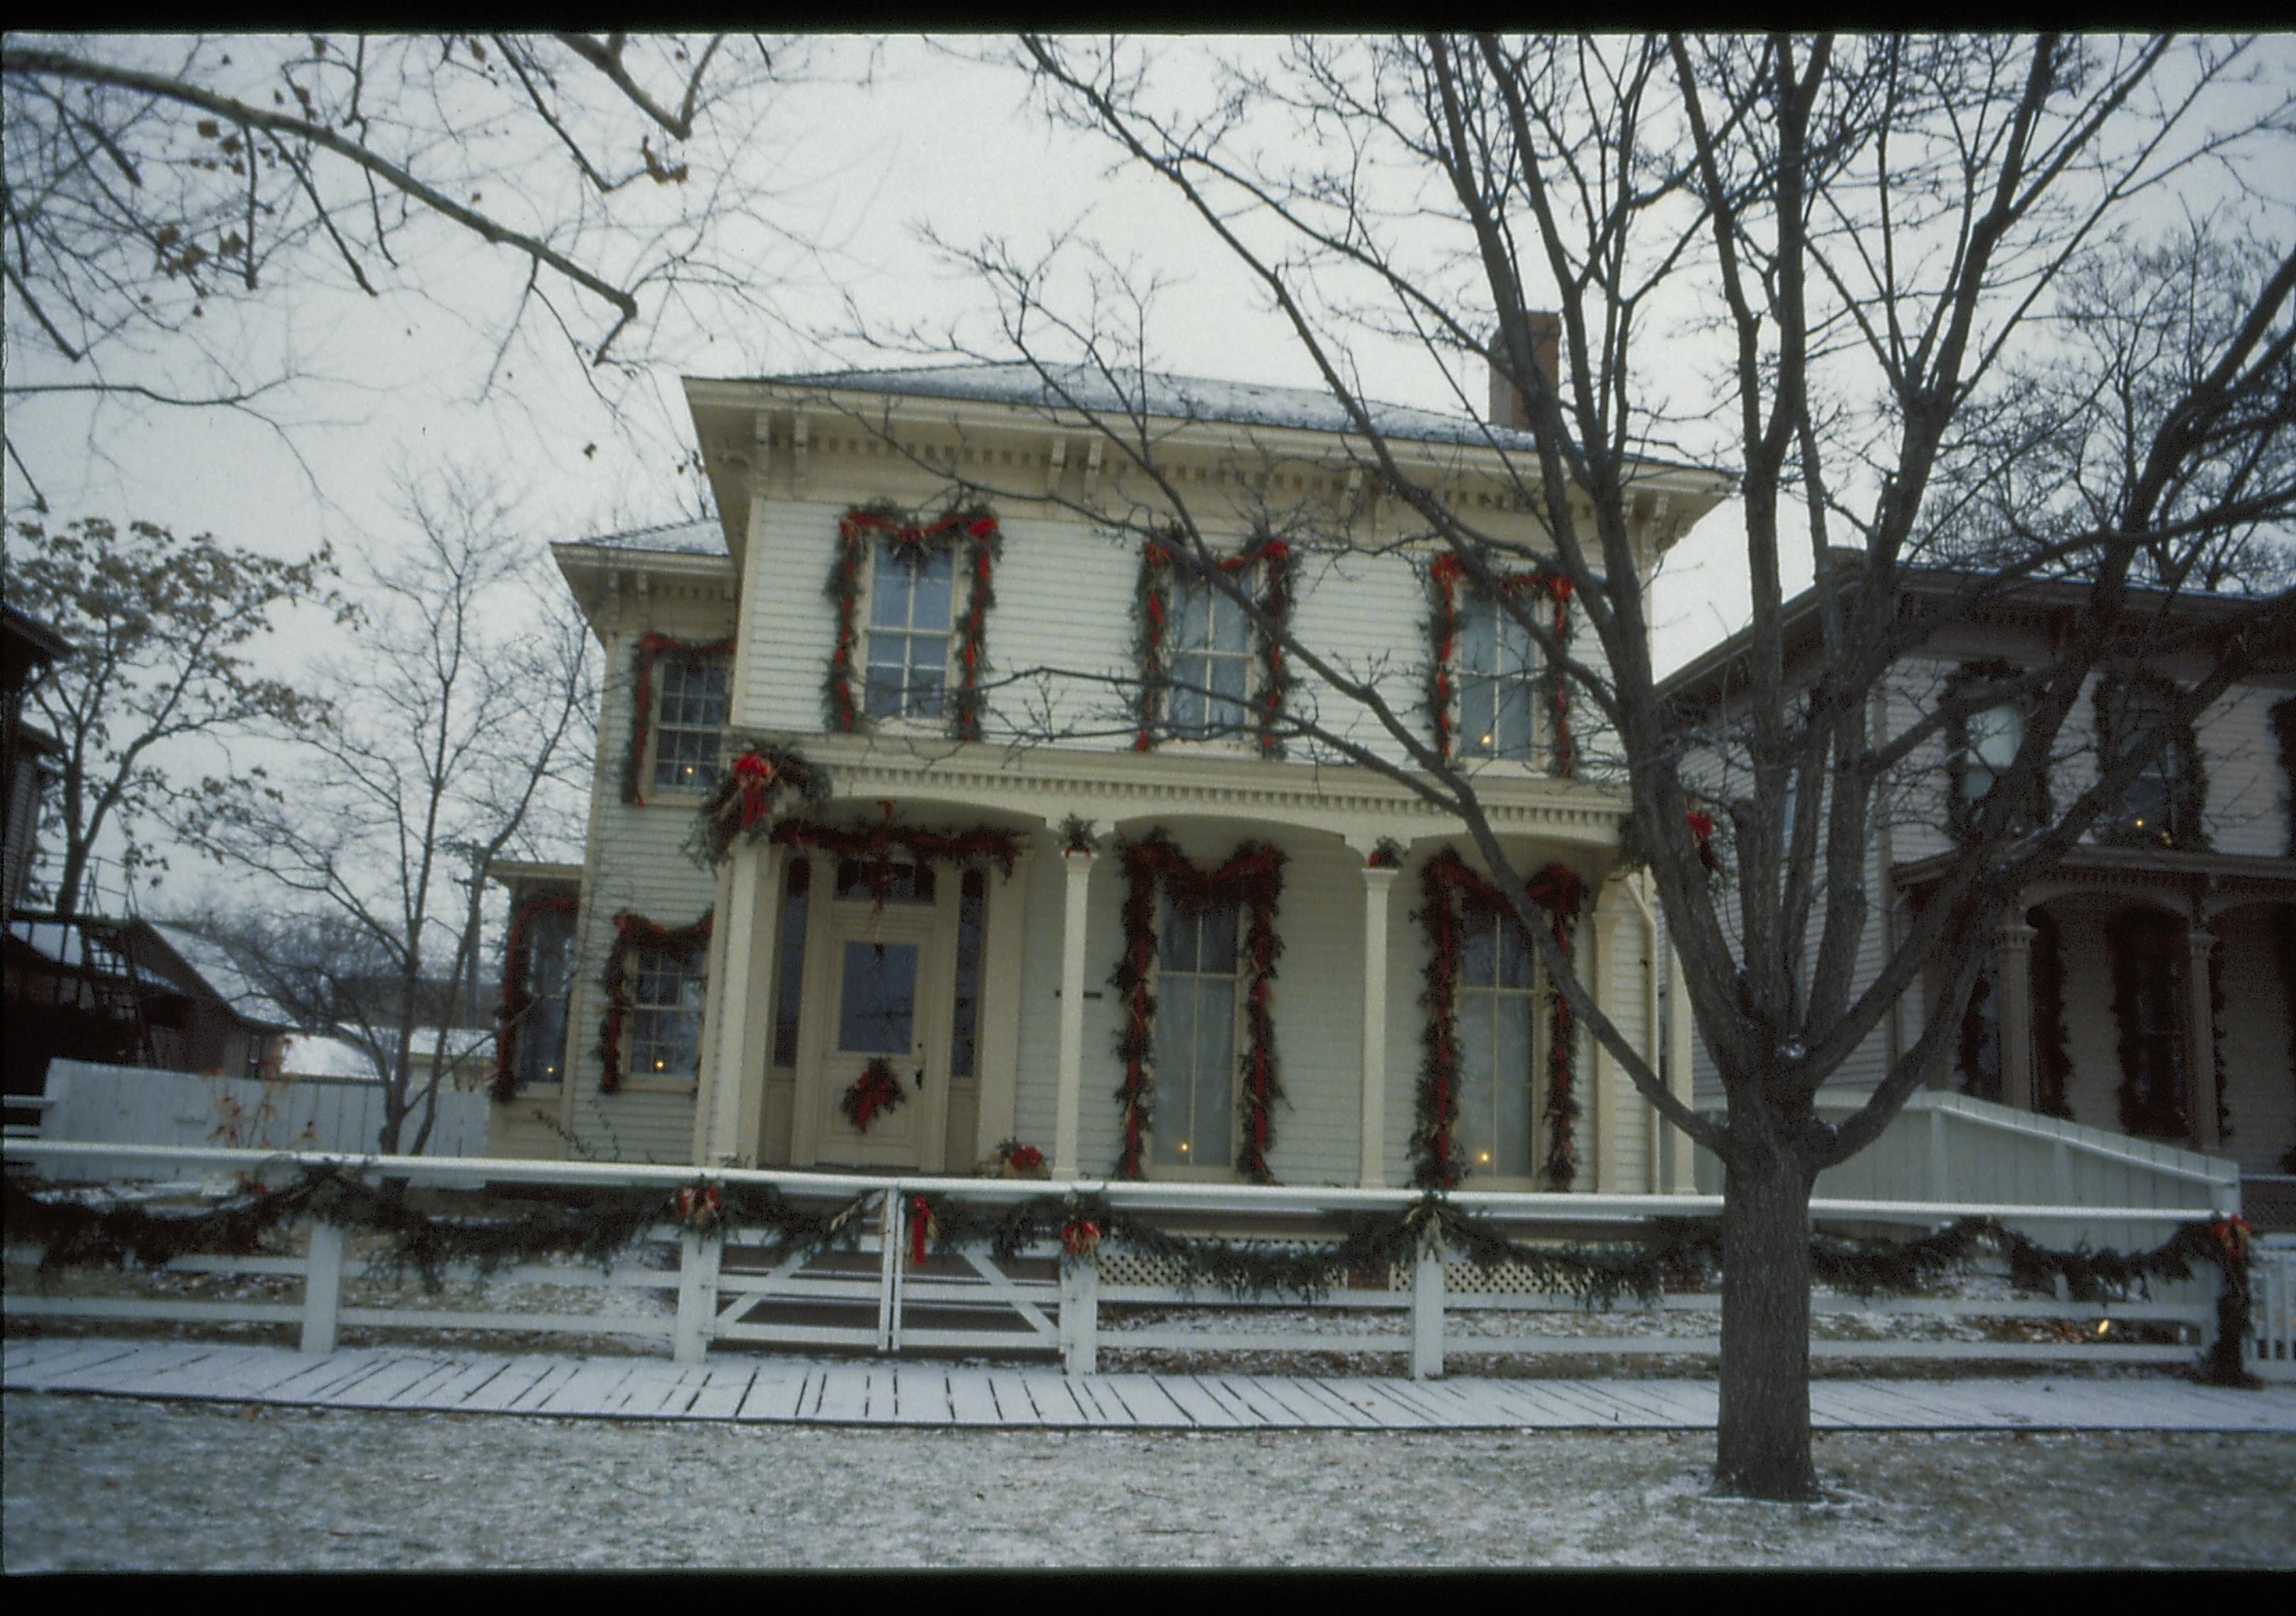
[[[0,46],[7,454],[39,409],[202,406],[282,425],[285,314],[432,296],[496,367],[523,333],[599,376],[666,310],[771,317],[751,158],[801,41],[680,34],[37,37]],[[510,264],[480,308],[436,273]],[[429,273],[427,273],[429,271]],[[44,507],[44,505],[41,505]]]

